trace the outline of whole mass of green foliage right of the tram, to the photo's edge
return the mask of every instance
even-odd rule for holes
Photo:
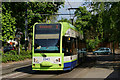
[[[120,2],[86,3],[91,10],[79,7],[76,26],[84,32],[87,47],[94,49],[100,42],[120,41]],[[92,7],[91,7],[92,6]]]

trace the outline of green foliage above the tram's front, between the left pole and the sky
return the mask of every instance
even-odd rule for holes
[[[32,28],[34,23],[36,22],[46,22],[47,20],[52,19],[52,15],[40,15],[40,14],[54,14],[58,11],[60,8],[60,5],[63,4],[63,2],[55,2],[53,4],[52,2],[33,2],[28,3],[28,32],[29,34],[32,34]],[[54,16],[53,16],[54,17]]]

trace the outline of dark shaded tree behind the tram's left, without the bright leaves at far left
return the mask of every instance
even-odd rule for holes
[[[29,37],[32,36],[33,33],[33,25],[36,22],[42,23],[46,22],[46,19],[52,19],[51,15],[41,15],[41,14],[54,14],[56,13],[60,6],[63,6],[63,2],[3,2],[5,8],[3,8],[3,14],[6,13],[6,10],[10,12],[11,17],[14,17],[16,20],[16,28],[21,28],[22,41],[24,44],[25,39],[25,13],[27,11],[27,21],[28,21],[28,34]],[[5,23],[5,22],[4,22]],[[12,36],[12,34],[11,34]],[[14,35],[13,35],[14,36]],[[32,38],[30,38],[32,39]]]

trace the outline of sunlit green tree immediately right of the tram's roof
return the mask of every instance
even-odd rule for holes
[[[75,11],[75,16],[77,17],[75,26],[81,33],[84,33],[84,40],[87,43],[87,48],[95,48],[95,46],[100,42],[96,36],[97,34],[95,34],[95,22],[97,22],[95,19],[96,17],[92,15],[85,6],[79,7],[79,9]]]

